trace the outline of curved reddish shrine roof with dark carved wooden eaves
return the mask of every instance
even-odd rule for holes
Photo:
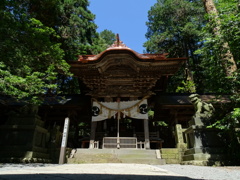
[[[70,61],[70,71],[93,97],[143,97],[164,91],[168,76],[175,74],[187,58],[168,54],[139,54],[117,40],[98,55],[80,55]]]

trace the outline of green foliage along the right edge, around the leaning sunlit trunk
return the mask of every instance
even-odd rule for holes
[[[218,15],[207,16],[210,21],[202,31],[204,45],[196,53],[202,58],[205,91],[229,94],[231,103],[220,107],[215,114],[215,122],[210,127],[222,130],[230,157],[234,157],[233,161],[239,162],[240,134],[237,129],[239,129],[240,118],[240,72],[237,69],[227,77],[226,67],[221,62],[222,55],[226,53],[224,44],[227,42],[239,68],[240,16],[237,4],[237,0],[220,0],[216,3]],[[217,35],[213,33],[216,27],[218,28]]]

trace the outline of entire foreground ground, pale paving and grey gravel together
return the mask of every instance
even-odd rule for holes
[[[0,164],[0,180],[240,180],[240,167],[146,164]]]

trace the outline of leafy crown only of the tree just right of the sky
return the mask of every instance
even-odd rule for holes
[[[202,15],[203,9],[197,2],[158,0],[148,12],[146,51],[168,52],[171,57],[185,56],[187,49],[199,43]]]

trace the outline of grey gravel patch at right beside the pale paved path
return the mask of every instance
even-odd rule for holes
[[[193,179],[240,180],[239,166],[208,167],[208,166],[169,164],[161,165],[158,167]]]

